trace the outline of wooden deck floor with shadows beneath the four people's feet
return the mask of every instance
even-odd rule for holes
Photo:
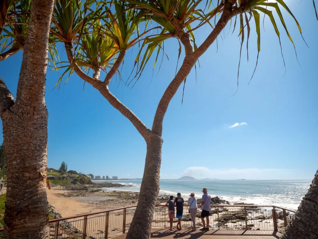
[[[127,234],[122,234],[114,239],[125,239]],[[183,229],[181,231],[169,231],[168,229],[152,229],[150,238],[180,238],[180,239],[274,239],[280,238],[280,233],[269,230],[212,230],[191,231]]]

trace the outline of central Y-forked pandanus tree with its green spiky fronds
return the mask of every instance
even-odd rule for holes
[[[63,2],[66,6],[58,7]],[[211,5],[215,7],[211,9]],[[66,68],[63,75],[67,72],[69,74],[75,72],[86,83],[91,84],[114,108],[131,121],[146,141],[147,153],[140,196],[127,238],[149,238],[159,193],[163,119],[169,102],[180,85],[185,83],[186,77],[196,65],[198,58],[217,40],[232,18],[235,18],[234,29],[235,26],[239,26],[236,29],[238,29],[242,45],[246,33],[245,42],[248,43],[251,31],[250,20],[254,20],[258,47],[256,66],[260,52],[260,14],[270,19],[280,44],[280,31],[273,11],[293,45],[294,42],[288,33],[280,9],[285,9],[294,18],[300,33],[301,28],[283,0],[114,0],[96,3],[94,7],[96,8],[94,11],[100,13],[98,16],[91,17],[87,15],[91,11],[81,7],[74,0],[57,2],[53,14],[54,34],[58,37],[57,41],[64,43],[69,64],[56,69]],[[64,15],[67,17],[62,19],[60,16]],[[149,33],[151,30],[149,22],[158,24],[159,33]],[[193,32],[206,24],[212,26],[211,33],[200,46],[197,46]],[[78,25],[80,27],[75,27]],[[144,28],[142,33],[140,26]],[[176,75],[171,77],[172,80],[159,101],[150,128],[111,93],[109,83],[116,73],[121,77],[119,69],[129,48],[137,43],[141,46],[134,64],[136,74],[133,74],[133,79],[129,83],[127,81],[127,84],[136,82],[140,78],[152,54],[156,54],[157,60],[164,41],[169,38],[176,38],[179,41],[178,59],[182,48],[185,55]],[[91,73],[89,73],[90,69]],[[101,71],[106,72],[103,80],[100,79]],[[315,213],[317,213],[316,209]],[[308,233],[308,235],[316,235],[317,230],[309,230]]]

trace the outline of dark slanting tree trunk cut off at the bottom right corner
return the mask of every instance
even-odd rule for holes
[[[318,238],[318,170],[282,239]]]

